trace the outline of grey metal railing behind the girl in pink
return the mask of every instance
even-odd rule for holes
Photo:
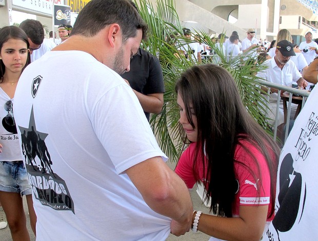
[[[274,124],[274,140],[276,140],[277,137],[277,126],[278,126],[278,119],[277,116],[279,116],[279,108],[280,108],[280,102],[281,102],[281,92],[286,91],[289,92],[289,101],[288,101],[288,108],[287,108],[287,120],[286,120],[286,131],[285,131],[285,136],[284,136],[284,140],[283,143],[285,143],[285,140],[287,139],[288,136],[288,130],[289,130],[289,123],[290,123],[290,111],[291,111],[291,103],[292,103],[292,95],[296,94],[296,95],[300,95],[303,97],[302,100],[302,108],[304,107],[307,97],[309,96],[310,92],[306,91],[306,90],[299,90],[299,89],[295,89],[295,88],[291,88],[291,87],[287,87],[287,86],[282,86],[282,85],[277,85],[268,81],[262,81],[262,80],[257,80],[257,83],[259,83],[262,86],[265,87],[272,87],[278,90],[277,93],[277,103],[276,103],[276,113],[275,113],[275,124]],[[270,94],[270,89],[268,89],[267,91],[268,95],[267,95],[267,102],[269,101],[269,94]]]

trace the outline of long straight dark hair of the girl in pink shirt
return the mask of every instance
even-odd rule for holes
[[[196,162],[203,163],[206,184],[205,198],[211,198],[211,210],[231,217],[237,191],[234,159],[240,145],[252,157],[260,176],[260,165],[241,140],[247,140],[265,157],[271,178],[271,206],[274,210],[276,172],[280,149],[272,138],[248,114],[231,74],[212,64],[193,66],[177,81],[175,90],[184,100],[187,118],[194,127],[190,107],[197,121],[197,143],[193,172],[198,180]],[[251,171],[251,169],[240,163]],[[260,178],[261,179],[261,178]],[[258,185],[261,183],[258,182]],[[262,187],[258,187],[260,190]],[[271,213],[272,214],[272,213]],[[271,215],[270,214],[270,215]]]

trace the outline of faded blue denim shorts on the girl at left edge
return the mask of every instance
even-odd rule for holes
[[[27,170],[22,160],[0,162],[0,191],[32,194]]]

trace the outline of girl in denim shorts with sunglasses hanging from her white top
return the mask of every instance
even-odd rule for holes
[[[36,215],[32,188],[20,150],[13,115],[13,97],[18,79],[30,63],[28,36],[15,26],[0,30],[0,202],[6,213],[13,240],[30,240],[22,196],[26,195],[31,228]]]

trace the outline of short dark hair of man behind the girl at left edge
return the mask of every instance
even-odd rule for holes
[[[19,28],[25,31],[33,44],[41,45],[43,43],[44,29],[41,22],[34,19],[26,19],[19,25]]]

